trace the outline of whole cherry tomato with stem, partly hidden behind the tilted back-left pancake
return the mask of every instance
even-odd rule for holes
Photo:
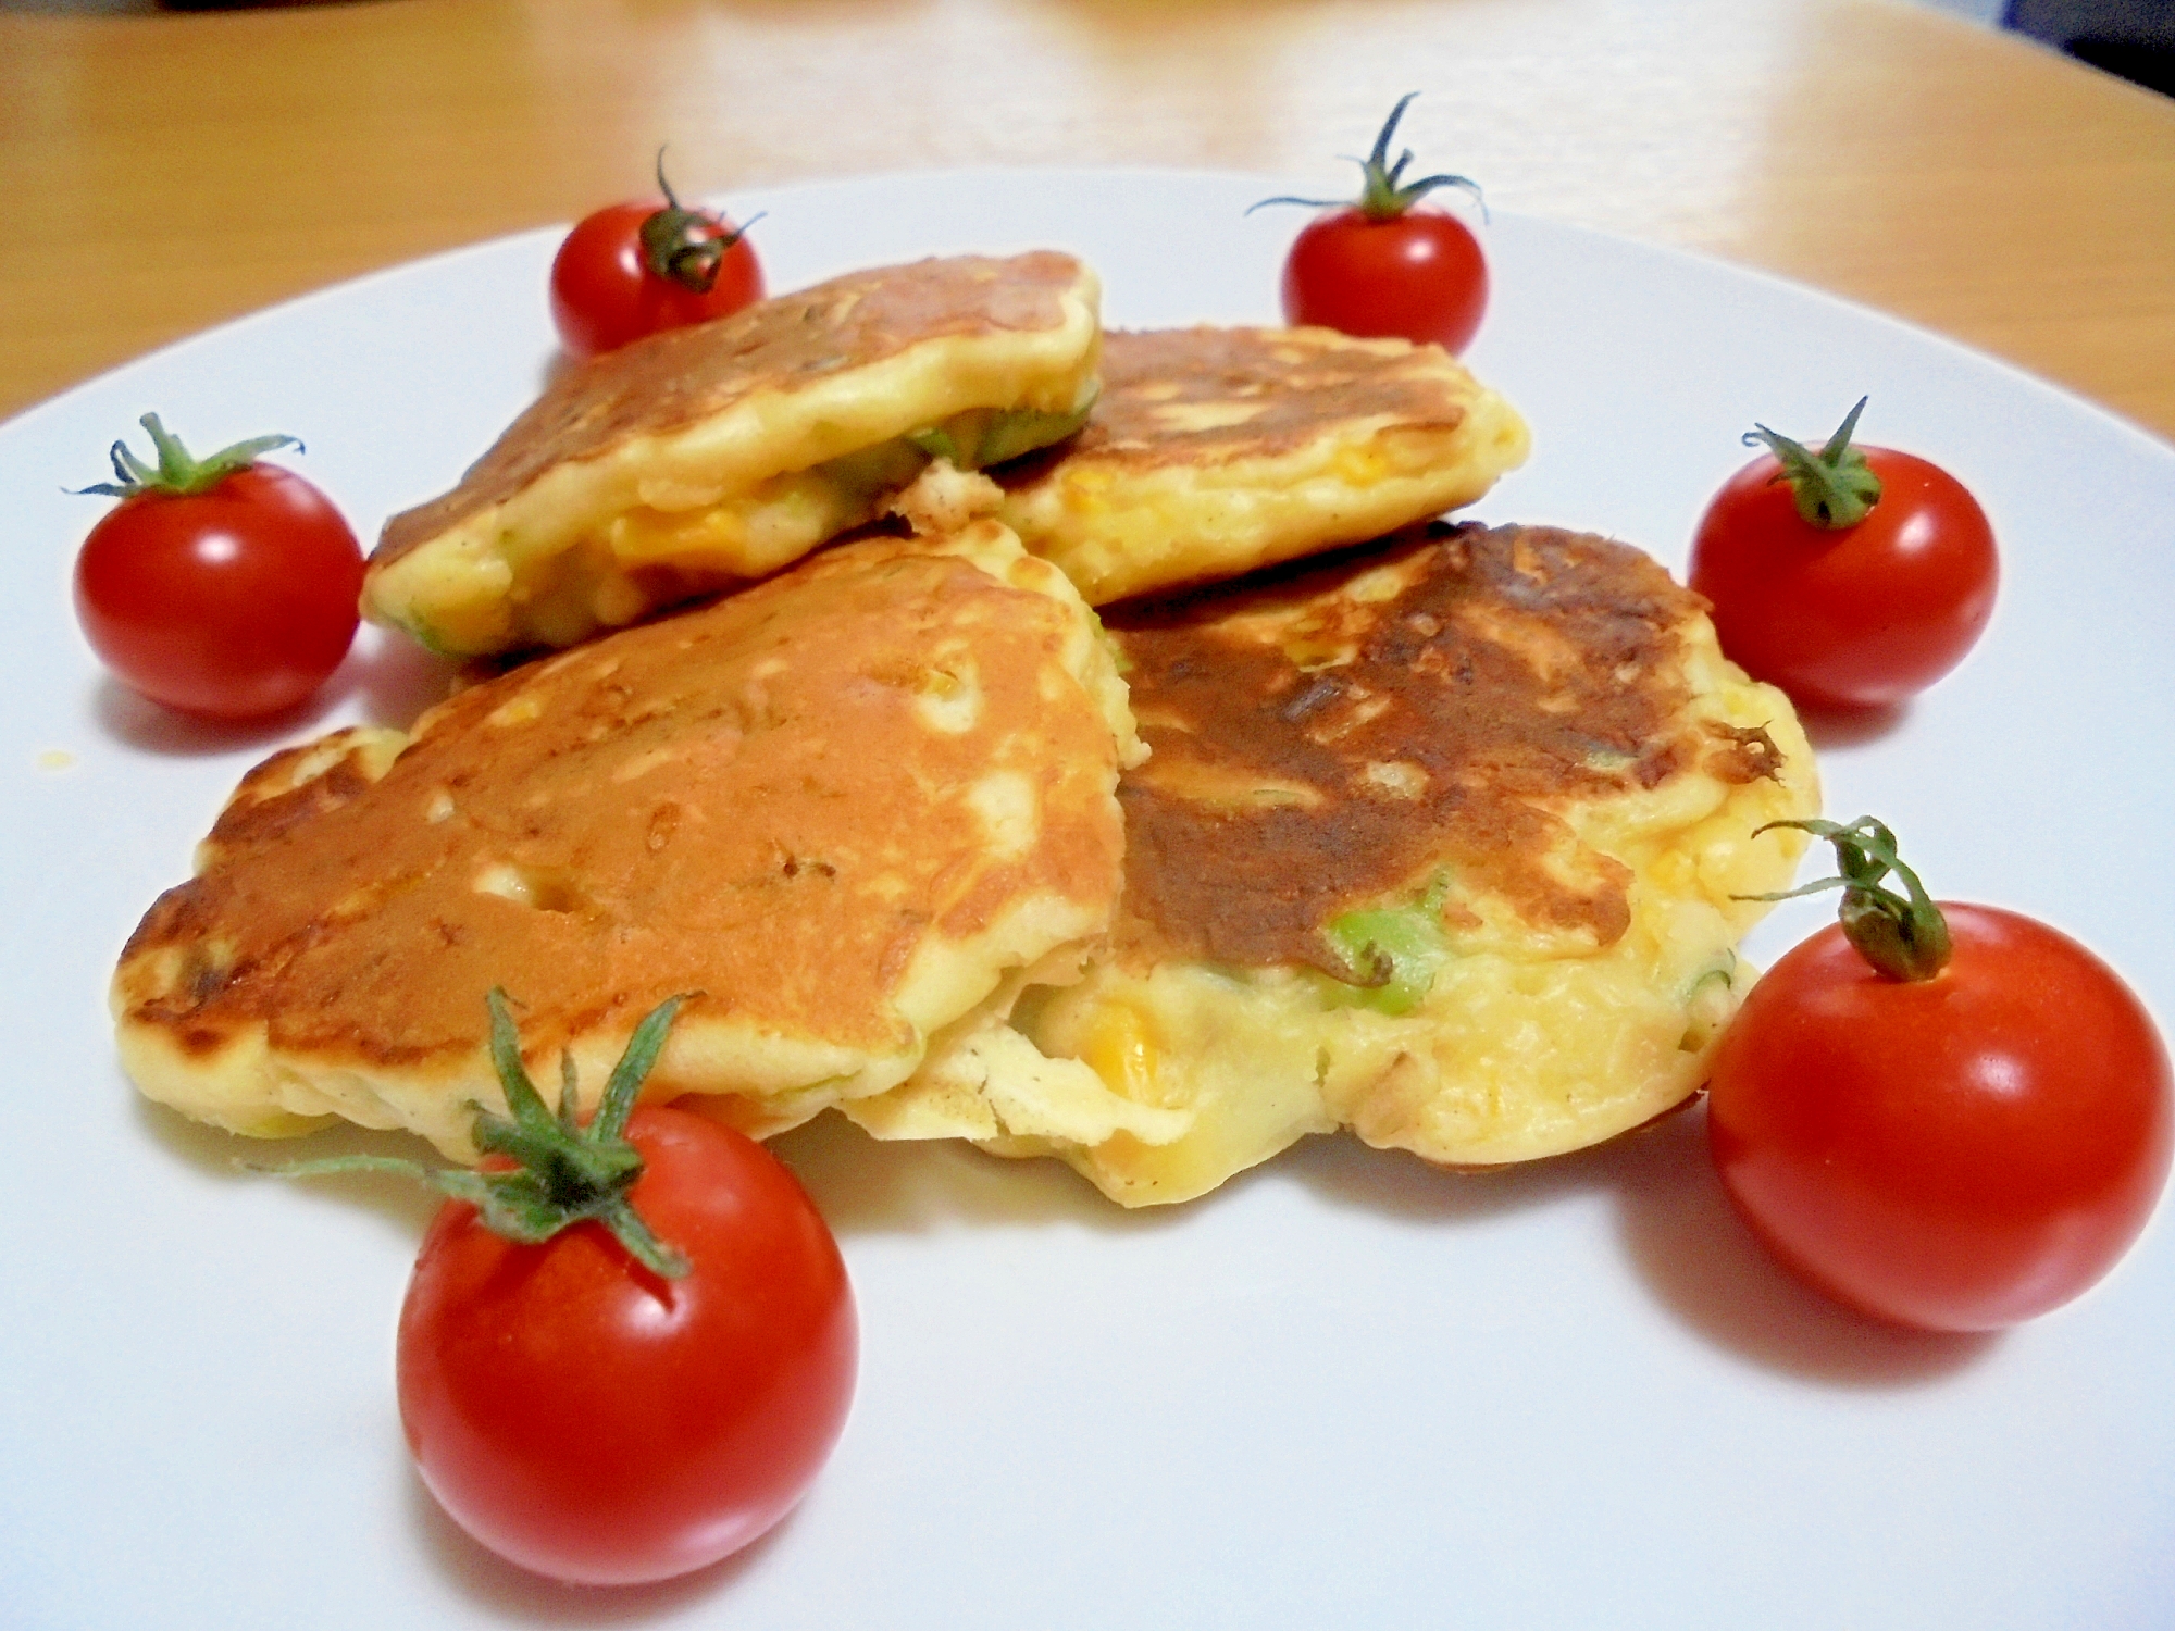
[[[670,189],[585,215],[550,265],[550,315],[576,357],[729,318],[761,298],[763,267],[744,233],[681,209]]]

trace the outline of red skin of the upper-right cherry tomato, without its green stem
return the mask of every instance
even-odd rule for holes
[[[1892,448],[1860,452],[1881,498],[1855,526],[1803,520],[1760,457],[1692,537],[1690,585],[1714,602],[1723,652],[1812,707],[1916,696],[1979,639],[2001,583],[1986,511],[1955,476]]]

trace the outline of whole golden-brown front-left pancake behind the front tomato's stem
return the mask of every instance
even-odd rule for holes
[[[122,955],[122,1061],[233,1131],[344,1116],[465,1159],[470,1103],[502,1105],[489,987],[589,1105],[692,992],[646,1092],[776,1131],[900,1083],[1022,972],[1077,972],[1138,752],[1094,615],[1003,526],[844,544],[411,737],[259,765]]]

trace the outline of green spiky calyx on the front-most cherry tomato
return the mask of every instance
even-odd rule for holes
[[[337,1155],[263,1170],[287,1179],[326,1172],[400,1172],[455,1200],[468,1200],[487,1229],[524,1246],[539,1246],[561,1229],[596,1220],[652,1274],[685,1277],[687,1259],[679,1248],[657,1240],[629,1200],[635,1179],[642,1176],[642,1155],[626,1142],[626,1118],[635,1111],[642,1083],[663,1053],[672,1016],[685,998],[670,996],[642,1018],[587,1126],[581,1122],[574,1059],[559,1057],[559,1113],[552,1116],[522,1063],[522,1042],[507,1013],[507,994],[494,985],[483,1000],[492,1016],[492,1068],[505,1087],[511,1116],[496,1116],[472,1103],[474,1140],[485,1155],[513,1161],[509,1170],[428,1168],[396,1155]]]

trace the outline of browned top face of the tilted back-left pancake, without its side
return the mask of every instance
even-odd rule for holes
[[[372,561],[400,559],[552,465],[596,457],[635,433],[698,424],[757,391],[794,389],[929,339],[1061,328],[1061,296],[1079,278],[1079,261],[1053,250],[957,254],[853,272],[718,322],[637,339],[559,374],[459,487],[385,522]]]

